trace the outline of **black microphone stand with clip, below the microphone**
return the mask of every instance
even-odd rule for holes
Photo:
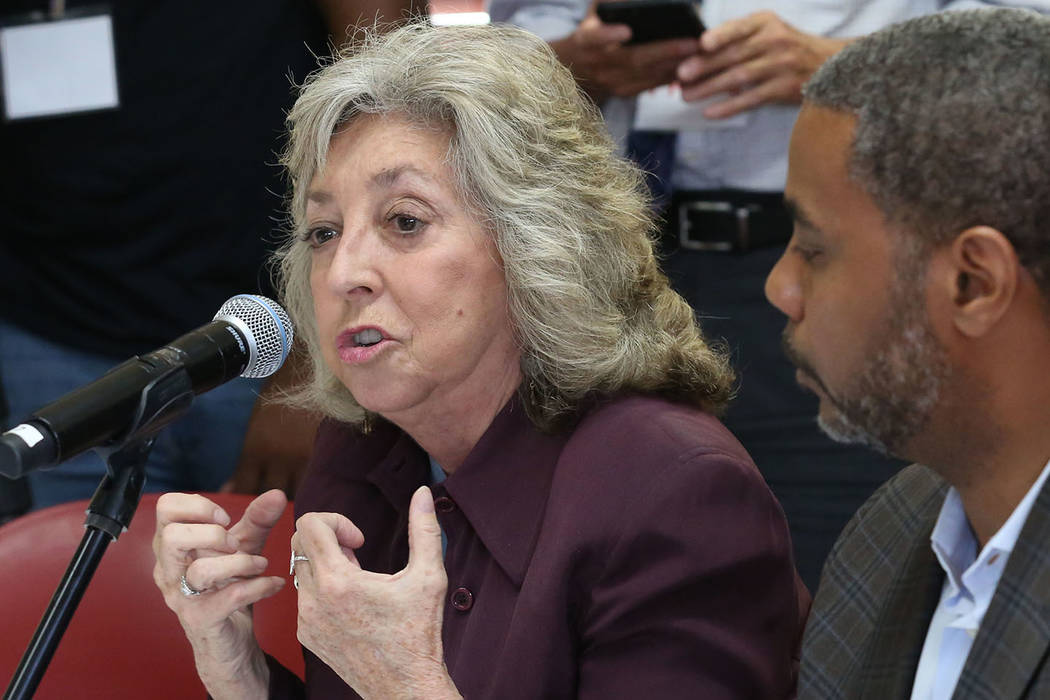
[[[135,418],[124,436],[111,445],[96,448],[106,461],[106,475],[87,508],[84,537],[15,671],[4,700],[23,700],[36,693],[106,547],[131,524],[156,433],[189,409],[193,396],[189,374],[185,368],[172,367],[143,388]]]

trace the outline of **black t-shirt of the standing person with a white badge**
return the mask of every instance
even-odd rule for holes
[[[0,125],[0,315],[123,358],[270,291],[292,80],[327,34],[309,0],[109,6],[120,107]]]

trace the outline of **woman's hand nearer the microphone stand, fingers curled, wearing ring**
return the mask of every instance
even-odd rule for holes
[[[202,495],[165,493],[156,502],[153,580],[193,646],[197,673],[213,698],[266,697],[269,670],[252,631],[250,606],[280,590],[262,576],[262,545],[288,499],[267,491],[230,525],[225,510]],[[187,595],[183,576],[191,590]]]

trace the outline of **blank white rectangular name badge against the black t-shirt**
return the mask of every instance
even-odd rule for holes
[[[8,120],[120,105],[109,15],[0,28],[0,80]]]

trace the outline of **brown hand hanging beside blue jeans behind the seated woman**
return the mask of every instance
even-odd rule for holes
[[[310,463],[320,417],[260,396],[255,402],[240,461],[220,490],[261,493],[281,489],[289,499]]]

